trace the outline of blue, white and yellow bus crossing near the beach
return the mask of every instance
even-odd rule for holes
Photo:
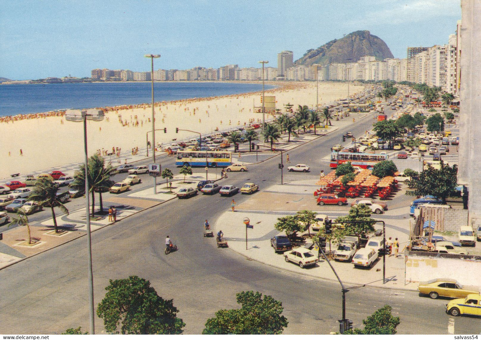
[[[229,166],[231,151],[177,151],[177,166]]]

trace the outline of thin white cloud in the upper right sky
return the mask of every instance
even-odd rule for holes
[[[399,25],[461,14],[460,0],[383,0],[348,25]]]

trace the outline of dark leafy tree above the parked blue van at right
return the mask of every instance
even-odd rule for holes
[[[418,178],[411,178],[409,183],[413,190],[406,191],[406,194],[411,196],[432,195],[441,199],[445,204],[446,198],[456,191],[457,165],[449,166],[441,160],[440,167],[438,170],[429,164]]]

